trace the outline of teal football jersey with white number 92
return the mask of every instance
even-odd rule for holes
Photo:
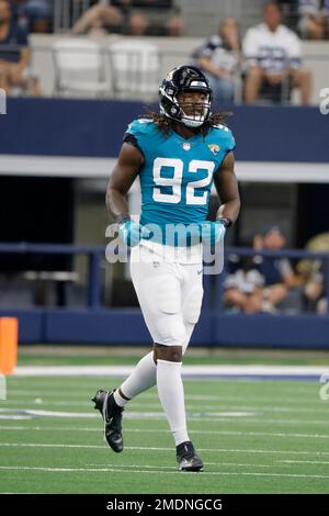
[[[163,135],[148,119],[134,120],[127,128],[144,155],[140,169],[140,224],[200,224],[208,213],[215,173],[236,146],[231,131],[217,125],[206,136],[183,138]],[[162,242],[166,244],[166,242]]]

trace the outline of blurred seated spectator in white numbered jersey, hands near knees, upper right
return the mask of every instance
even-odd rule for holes
[[[263,86],[299,88],[302,103],[309,104],[311,76],[302,68],[300,42],[296,34],[281,24],[280,7],[269,2],[263,8],[264,23],[247,31],[242,49],[247,59],[245,99],[258,100]]]

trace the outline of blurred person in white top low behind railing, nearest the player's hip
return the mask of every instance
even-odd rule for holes
[[[264,278],[257,269],[253,258],[230,255],[227,268],[224,282],[225,305],[250,314],[261,312]]]

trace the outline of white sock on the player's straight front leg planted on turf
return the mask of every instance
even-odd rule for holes
[[[157,385],[161,405],[169,422],[175,446],[189,439],[181,378],[182,362],[157,360]]]

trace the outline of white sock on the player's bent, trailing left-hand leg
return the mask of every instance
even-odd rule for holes
[[[128,378],[120,386],[125,397],[129,400],[157,383],[157,366],[154,361],[154,351],[143,357]],[[129,400],[125,400],[118,392],[114,392],[114,400],[118,406],[125,406]]]

